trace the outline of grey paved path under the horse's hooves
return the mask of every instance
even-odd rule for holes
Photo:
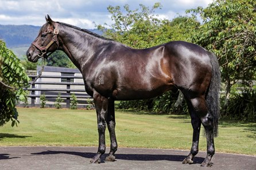
[[[119,148],[117,161],[89,164],[96,151],[95,147],[0,147],[0,169],[207,169],[200,167],[204,152],[197,155],[195,164],[187,165],[181,162],[188,151]],[[216,153],[212,162],[208,169],[256,169],[255,156]]]

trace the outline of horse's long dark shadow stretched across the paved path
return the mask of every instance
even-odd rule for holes
[[[69,152],[69,151],[44,151],[38,153],[32,153],[32,155],[55,155],[55,154],[68,154],[81,156],[91,159],[95,156],[92,152]],[[102,160],[106,158],[107,154],[102,156]],[[182,162],[185,157],[184,155],[152,155],[152,154],[115,154],[117,160],[132,160],[132,161],[179,161]],[[204,161],[203,157],[195,157],[193,160],[195,164],[201,164]]]

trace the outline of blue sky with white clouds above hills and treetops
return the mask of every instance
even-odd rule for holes
[[[173,19],[185,15],[185,10],[198,6],[207,7],[213,0],[0,0],[1,25],[35,25],[45,23],[49,14],[53,21],[65,22],[85,29],[94,29],[96,24],[110,25],[111,15],[107,7],[130,6],[131,10],[139,4],[152,7],[160,2],[161,10],[156,10],[160,18]]]

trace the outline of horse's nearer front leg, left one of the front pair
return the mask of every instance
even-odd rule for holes
[[[106,97],[101,96],[99,93],[94,92],[94,104],[97,113],[99,148],[97,154],[91,159],[90,163],[100,163],[100,156],[102,156],[106,151],[105,130],[108,99]]]

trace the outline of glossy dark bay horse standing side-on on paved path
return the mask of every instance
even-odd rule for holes
[[[55,50],[63,50],[77,66],[83,74],[86,92],[94,98],[99,148],[91,163],[100,163],[100,156],[106,151],[106,127],[111,140],[106,161],[115,161],[115,100],[152,98],[168,90],[180,89],[187,100],[193,127],[191,151],[183,163],[193,163],[199,151],[199,133],[203,124],[207,156],[201,165],[212,165],[220,90],[220,69],[213,53],[183,41],[132,49],[88,30],[54,22],[48,15],[28,49],[28,60],[37,62],[38,58],[47,58],[48,53]]]

